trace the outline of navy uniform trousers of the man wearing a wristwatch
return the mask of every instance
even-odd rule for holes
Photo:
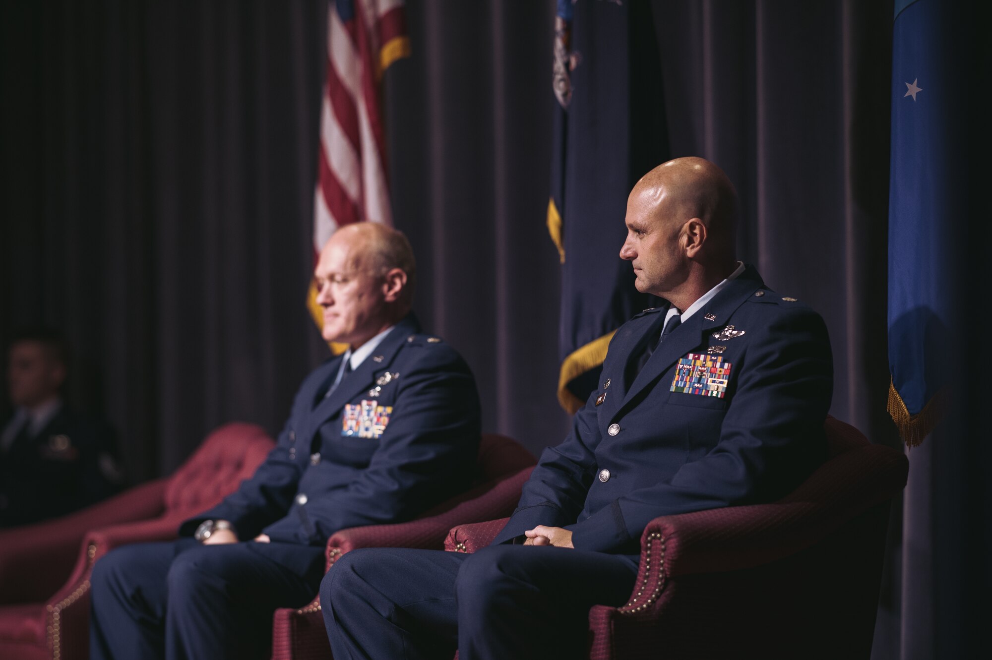
[[[191,538],[117,548],[93,567],[90,658],[270,658],[272,615],[313,598],[323,548],[300,575],[276,544]]]

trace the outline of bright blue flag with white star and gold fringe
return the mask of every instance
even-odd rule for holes
[[[951,2],[953,0],[950,0]],[[889,182],[889,413],[909,446],[940,418],[954,305],[952,209],[963,197],[954,153],[959,109],[947,5],[897,0]]]

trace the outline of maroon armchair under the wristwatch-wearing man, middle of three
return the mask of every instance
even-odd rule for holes
[[[509,515],[531,476],[534,456],[514,440],[483,434],[476,486],[425,512],[415,520],[352,527],[327,540],[327,570],[355,548],[428,548],[440,550],[452,525]],[[276,610],[272,635],[274,660],[326,660],[330,644],[323,627],[319,598],[301,609]]]

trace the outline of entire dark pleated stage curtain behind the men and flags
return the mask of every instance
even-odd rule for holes
[[[554,4],[411,0],[413,55],[386,78],[416,309],[471,365],[485,428],[535,452],[568,426],[544,226]],[[826,320],[832,413],[895,445],[891,2],[651,6],[673,155],[737,183],[740,258]],[[24,325],[66,332],[70,398],[119,428],[134,481],[224,421],[277,432],[327,355],[303,304],[324,16],[321,2],[262,0],[2,9],[0,341]],[[899,502],[893,520],[896,557]],[[876,657],[927,657],[930,597],[901,626],[901,570],[887,564]]]

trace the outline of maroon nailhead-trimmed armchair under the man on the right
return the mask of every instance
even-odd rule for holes
[[[832,417],[826,435],[829,460],[791,495],[653,520],[628,603],[589,611],[589,657],[867,658],[909,462]],[[505,524],[455,527],[444,547],[474,552]]]

